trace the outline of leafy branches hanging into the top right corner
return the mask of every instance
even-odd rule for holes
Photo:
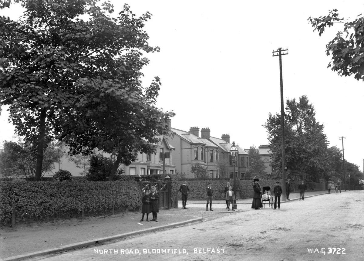
[[[334,23],[342,25],[342,31],[338,31],[326,45],[326,54],[331,56],[328,68],[340,76],[353,75],[355,79],[364,81],[364,16],[358,15],[356,19],[348,21],[340,18],[337,9],[333,9],[327,16],[310,16],[308,20],[319,36]]]

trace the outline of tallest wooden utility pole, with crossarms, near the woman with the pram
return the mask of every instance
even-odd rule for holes
[[[282,186],[286,183],[286,154],[284,151],[285,142],[284,142],[284,100],[283,100],[283,76],[282,76],[282,55],[288,54],[288,49],[282,50],[282,48],[278,48],[277,51],[273,50],[273,57],[279,56],[279,76],[281,81],[281,124],[282,124]],[[286,53],[282,53],[286,52]],[[286,186],[284,185],[282,200],[286,198]]]

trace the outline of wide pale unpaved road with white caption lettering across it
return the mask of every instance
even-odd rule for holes
[[[364,193],[319,195],[37,260],[142,259],[364,260]]]

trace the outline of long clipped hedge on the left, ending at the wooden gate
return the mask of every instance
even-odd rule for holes
[[[114,182],[0,182],[0,221],[5,224],[16,210],[17,220],[53,217],[59,213],[92,213],[112,207],[141,206],[141,192],[135,181]]]

